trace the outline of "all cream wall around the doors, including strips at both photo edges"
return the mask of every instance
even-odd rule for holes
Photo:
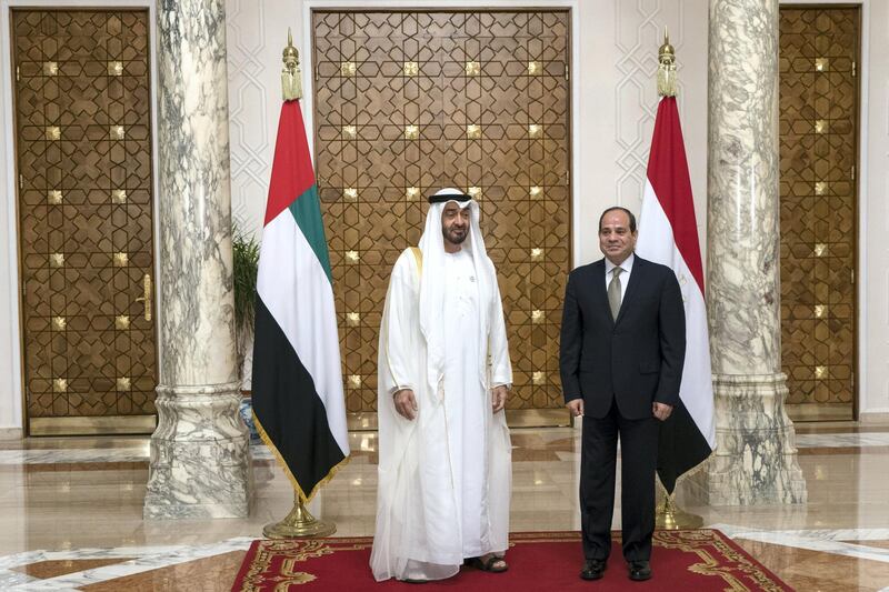
[[[150,2],[150,0],[147,0]],[[39,0],[30,4],[39,3]],[[61,0],[53,6],[60,6]],[[565,2],[559,2],[563,4]],[[232,214],[248,230],[258,231],[266,204],[274,133],[280,109],[280,51],[291,27],[303,37],[302,0],[227,0],[229,113]],[[330,6],[369,6],[342,0]],[[374,2],[373,7],[422,6],[423,0]],[[0,0],[6,19],[9,0]],[[312,6],[320,6],[314,2]],[[432,6],[432,4],[430,4]],[[433,6],[440,7],[441,2]],[[478,6],[478,4],[477,4]],[[552,6],[516,0],[497,6]],[[572,83],[579,101],[572,172],[575,191],[576,262],[598,257],[596,235],[588,232],[606,205],[619,201],[638,210],[656,104],[653,72],[661,30],[669,26],[680,63],[680,109],[691,183],[698,210],[699,234],[706,237],[707,187],[707,0],[581,0],[575,2],[576,38]],[[889,413],[889,4],[865,1],[867,63],[862,106],[869,124],[862,137],[861,238],[861,388],[860,409]],[[3,20],[0,24],[3,24]],[[8,48],[9,28],[0,27],[0,47]],[[871,33],[872,31],[872,33]],[[651,49],[649,49],[651,48]],[[303,60],[304,61],[304,60]],[[19,384],[18,279],[14,235],[14,165],[9,54],[0,59],[0,428],[21,428]],[[9,123],[9,124],[8,124]],[[702,244],[703,247],[703,244]]]

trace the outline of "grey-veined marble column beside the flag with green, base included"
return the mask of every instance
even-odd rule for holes
[[[242,518],[224,0],[157,10],[161,353],[144,516]]]

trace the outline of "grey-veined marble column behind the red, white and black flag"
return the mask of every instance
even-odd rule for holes
[[[781,373],[778,0],[710,0],[711,504],[806,501]]]

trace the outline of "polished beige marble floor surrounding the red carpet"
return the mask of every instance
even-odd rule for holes
[[[370,535],[376,435],[350,438],[351,462],[310,509],[338,534]],[[512,439],[512,530],[578,530],[579,431]],[[806,504],[700,505],[693,480],[678,500],[797,590],[889,592],[889,425],[799,424],[797,445]],[[292,505],[268,450],[253,446],[253,464],[249,519],[149,522],[147,439],[0,442],[0,590],[229,590],[250,541]]]

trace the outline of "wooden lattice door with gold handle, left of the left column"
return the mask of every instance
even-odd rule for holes
[[[12,22],[28,418],[152,414],[149,13]]]

